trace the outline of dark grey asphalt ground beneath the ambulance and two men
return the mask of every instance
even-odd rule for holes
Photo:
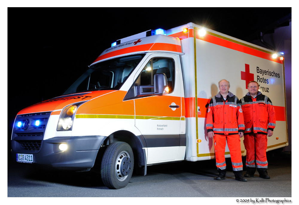
[[[267,159],[271,179],[262,179],[256,172],[254,177],[247,178],[247,182],[237,181],[230,158],[227,158],[226,180],[214,180],[218,175],[215,160],[174,162],[148,166],[146,176],[133,174],[125,188],[113,190],[104,186],[100,174],[94,171],[44,171],[31,164],[13,162],[8,157],[7,197],[16,197],[22,202],[26,197],[29,197],[27,200],[31,200],[31,197],[101,197],[101,200],[109,200],[111,197],[122,200],[121,198],[128,197],[133,201],[138,197],[152,198],[150,200],[167,197],[174,202],[186,197],[188,200],[198,198],[200,201],[203,198],[217,201],[231,197],[246,200],[292,198],[291,152],[270,151]],[[243,164],[245,165],[245,157]],[[76,199],[75,202],[79,201]],[[237,203],[235,199],[233,202]]]

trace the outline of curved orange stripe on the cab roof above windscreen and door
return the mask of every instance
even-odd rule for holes
[[[131,46],[128,48],[119,49],[116,51],[112,51],[106,53],[104,55],[100,55],[94,62],[103,60],[105,58],[110,58],[117,55],[132,53],[132,52],[139,52],[139,51],[153,51],[153,50],[162,50],[162,51],[173,51],[173,52],[182,52],[180,45],[170,44],[170,43],[148,43],[139,46]],[[93,63],[94,63],[93,62]]]

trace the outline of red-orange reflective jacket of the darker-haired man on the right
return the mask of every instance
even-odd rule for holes
[[[275,128],[275,111],[271,100],[260,91],[255,98],[248,92],[242,99],[245,132],[267,134],[268,129]]]

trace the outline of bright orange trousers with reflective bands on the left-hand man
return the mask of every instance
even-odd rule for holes
[[[241,140],[238,134],[236,135],[217,135],[214,136],[214,147],[216,155],[217,169],[226,169],[225,163],[225,146],[226,142],[231,155],[231,164],[233,171],[242,171],[242,155],[241,155]]]

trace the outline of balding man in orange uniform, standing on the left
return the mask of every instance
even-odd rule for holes
[[[226,174],[225,146],[226,141],[231,155],[231,163],[235,179],[246,182],[242,175],[243,163],[240,138],[243,137],[244,120],[237,96],[229,92],[229,82],[219,81],[220,92],[212,97],[207,115],[207,131],[209,138],[214,138],[216,167],[219,176],[216,180],[224,180]]]

